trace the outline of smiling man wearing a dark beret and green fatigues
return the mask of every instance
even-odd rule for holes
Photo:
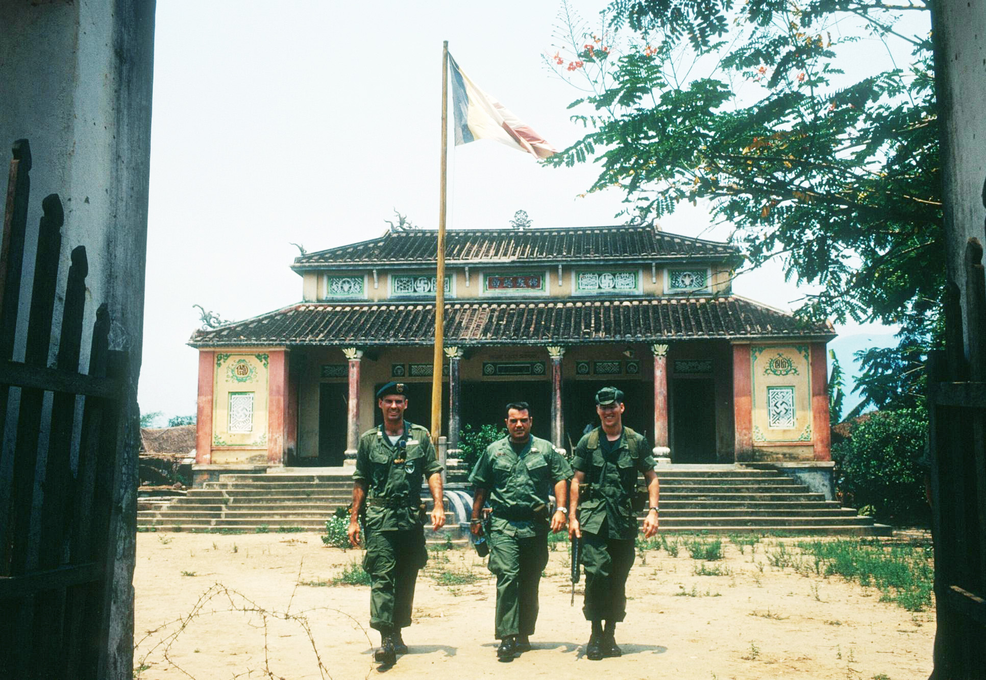
[[[397,654],[407,652],[400,629],[411,625],[414,583],[428,561],[422,526],[423,478],[435,501],[432,529],[438,531],[445,524],[442,466],[428,430],[404,420],[404,390],[403,383],[387,383],[377,392],[384,422],[360,437],[348,532],[355,548],[360,541],[359,517],[365,510],[363,568],[370,574],[370,627],[380,631],[381,645],[374,657],[384,665],[392,665]]]

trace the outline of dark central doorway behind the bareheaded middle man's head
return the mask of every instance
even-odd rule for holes
[[[463,382],[461,422],[475,429],[485,424],[503,427],[504,407],[509,402],[527,402],[531,434],[551,438],[551,385],[547,381]]]

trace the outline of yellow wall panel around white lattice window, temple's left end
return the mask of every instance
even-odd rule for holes
[[[212,400],[212,462],[265,463],[267,461],[268,355],[216,353]],[[230,431],[230,394],[253,396],[248,432]]]

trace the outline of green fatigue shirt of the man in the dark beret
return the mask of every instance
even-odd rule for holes
[[[414,529],[421,524],[422,479],[442,472],[428,430],[404,420],[404,433],[391,444],[384,425],[363,433],[356,450],[354,482],[367,485],[370,531]]]

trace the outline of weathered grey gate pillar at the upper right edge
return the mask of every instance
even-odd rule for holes
[[[982,197],[986,181],[986,6],[969,0],[937,0],[932,6],[948,272],[964,300],[965,242],[972,236],[986,241]]]

